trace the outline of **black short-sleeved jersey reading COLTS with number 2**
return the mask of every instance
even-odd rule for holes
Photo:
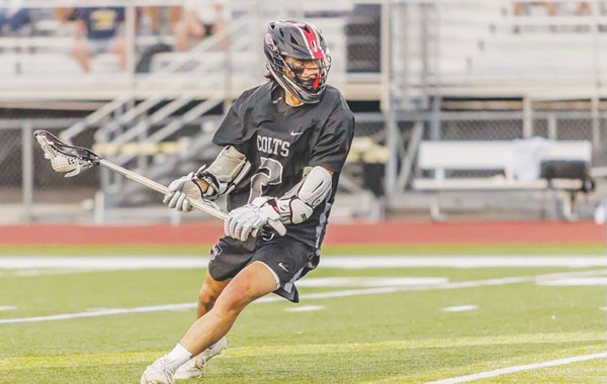
[[[219,146],[236,147],[251,163],[246,178],[229,195],[228,209],[259,196],[282,197],[302,180],[304,167],[332,170],[333,186],[325,201],[308,220],[286,226],[285,236],[308,244],[317,254],[353,133],[354,115],[334,87],[327,86],[319,103],[299,107],[287,106],[282,88],[271,82],[246,90],[213,138]],[[243,246],[251,251],[255,241],[249,238]]]

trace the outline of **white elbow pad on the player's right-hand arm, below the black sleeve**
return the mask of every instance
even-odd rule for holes
[[[304,177],[285,196],[269,203],[280,215],[280,221],[286,224],[299,224],[308,220],[314,208],[331,193],[333,177],[323,167],[306,167]]]

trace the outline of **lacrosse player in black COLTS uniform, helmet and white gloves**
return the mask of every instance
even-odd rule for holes
[[[198,320],[142,384],[200,377],[248,303],[270,292],[299,302],[294,283],[319,262],[354,116],[327,86],[331,58],[316,27],[270,22],[264,43],[269,81],[231,106],[213,138],[223,147],[217,158],[173,181],[164,197],[189,211],[190,199],[227,195],[229,216],[211,249]]]

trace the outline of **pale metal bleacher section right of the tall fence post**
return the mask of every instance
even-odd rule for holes
[[[515,16],[506,1],[436,2],[425,11],[407,5],[395,14],[402,41],[393,44],[395,75],[406,78],[409,92],[426,83],[455,96],[595,92],[597,67],[605,78],[595,55],[607,48],[607,14],[548,16],[540,5],[531,8],[532,15]]]

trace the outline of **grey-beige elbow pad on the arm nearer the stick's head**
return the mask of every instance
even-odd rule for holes
[[[250,169],[251,163],[245,155],[232,146],[223,148],[211,165],[202,166],[196,172],[196,178],[208,185],[202,192],[202,197],[215,200],[221,195],[229,194]]]

